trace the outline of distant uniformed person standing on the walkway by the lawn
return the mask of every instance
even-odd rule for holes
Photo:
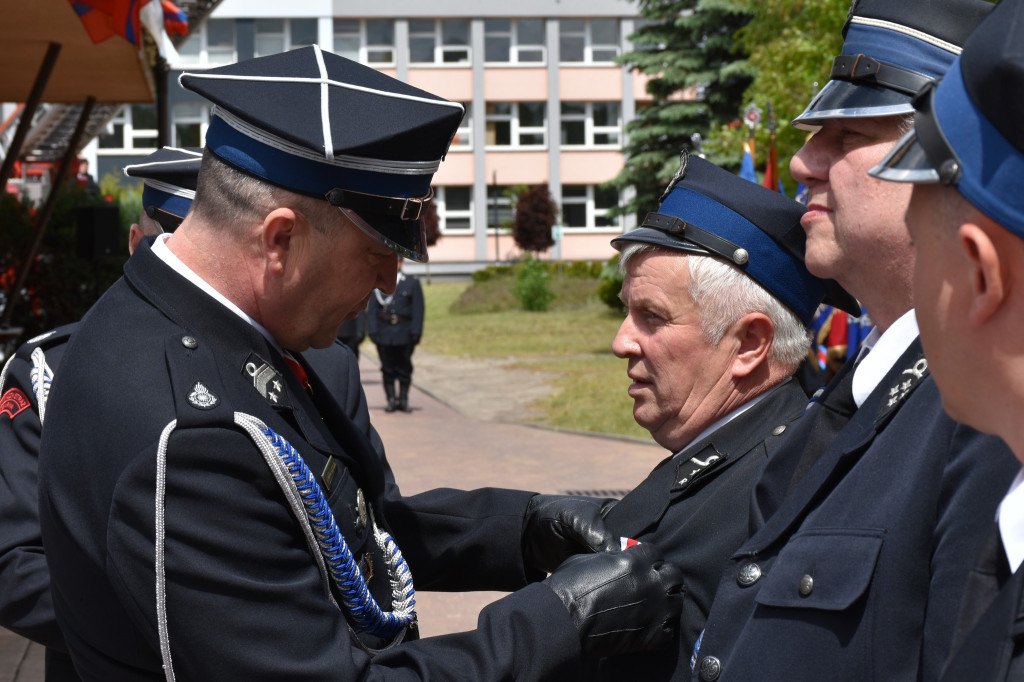
[[[409,407],[409,385],[413,381],[413,351],[423,336],[423,289],[420,281],[401,271],[398,262],[398,284],[394,293],[374,290],[370,297],[370,340],[377,346],[381,360],[381,377],[386,412],[412,412]],[[394,383],[398,382],[397,397]]]

